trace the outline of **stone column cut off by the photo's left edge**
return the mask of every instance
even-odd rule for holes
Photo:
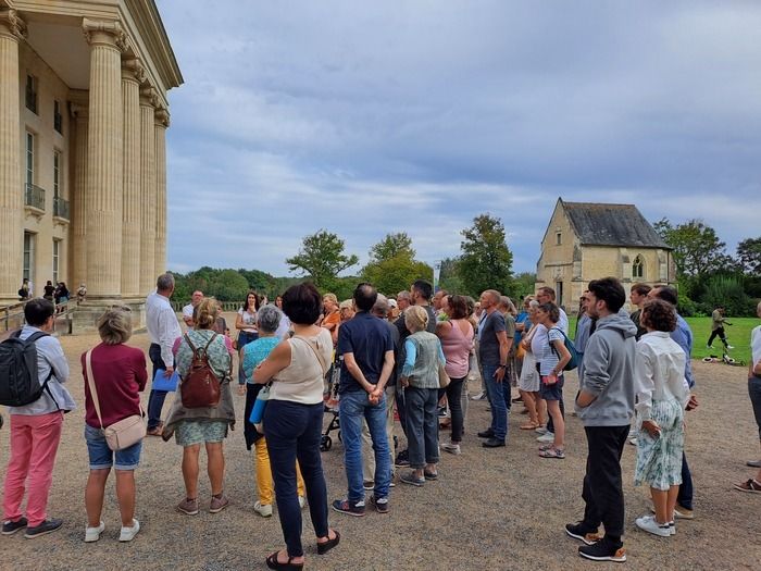
[[[23,272],[18,40],[25,34],[15,10],[0,10],[0,302],[18,300]]]

